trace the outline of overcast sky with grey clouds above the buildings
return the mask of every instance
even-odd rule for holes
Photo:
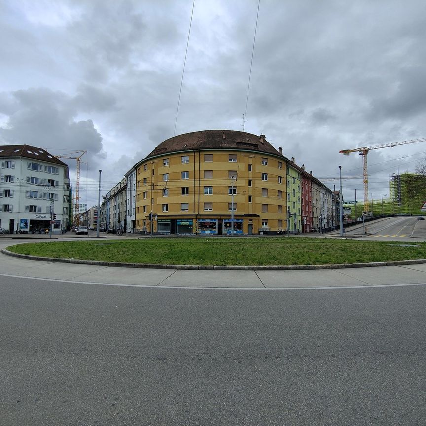
[[[192,0],[0,0],[0,144],[88,150],[81,203],[174,134]],[[176,134],[243,130],[257,0],[195,0]],[[245,131],[362,199],[340,149],[426,137],[424,0],[261,0]],[[370,194],[426,142],[368,154]],[[75,161],[70,165],[75,185]],[[371,195],[370,195],[371,197]]]

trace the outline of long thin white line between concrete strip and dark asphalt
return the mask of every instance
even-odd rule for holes
[[[112,283],[93,283],[90,281],[71,281],[71,280],[55,280],[53,278],[39,278],[39,277],[23,277],[22,275],[10,275],[0,274],[3,277],[20,278],[25,280],[36,280],[36,281],[51,281],[56,283],[66,284],[93,284],[93,285],[104,285],[108,287],[139,287],[139,288],[159,288],[159,289],[171,289],[171,290],[244,290],[244,291],[268,291],[268,290],[346,290],[356,288],[387,288],[387,287],[416,287],[426,285],[426,283],[412,283],[412,284],[382,284],[382,285],[347,285],[347,286],[330,286],[330,287],[255,287],[255,288],[233,288],[233,287],[184,287],[184,286],[173,286],[173,285],[139,285],[139,284],[112,284]]]

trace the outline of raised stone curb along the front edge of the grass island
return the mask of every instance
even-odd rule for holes
[[[141,268],[141,269],[182,269],[182,270],[197,270],[197,271],[297,271],[297,270],[318,270],[318,269],[345,269],[345,268],[366,268],[375,266],[401,266],[401,265],[416,265],[426,263],[426,259],[413,260],[395,260],[392,262],[372,262],[372,263],[341,263],[330,265],[161,265],[154,263],[124,263],[124,262],[102,262],[99,260],[80,260],[80,259],[63,259],[56,257],[41,257],[29,256],[26,254],[13,253],[7,249],[1,249],[1,253],[19,257],[28,260],[41,260],[44,262],[62,262],[75,263],[84,265],[96,266],[115,266],[120,268]]]

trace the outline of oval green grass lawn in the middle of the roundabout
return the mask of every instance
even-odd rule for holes
[[[152,238],[59,241],[10,246],[15,253],[173,265],[321,265],[426,259],[426,243],[303,237]],[[410,243],[412,244],[412,243]]]

